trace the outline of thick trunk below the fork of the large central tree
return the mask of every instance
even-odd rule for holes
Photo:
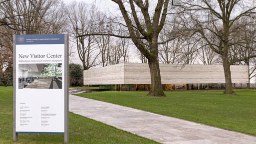
[[[147,96],[164,97],[162,89],[161,75],[158,60],[148,60],[151,76],[151,88]]]

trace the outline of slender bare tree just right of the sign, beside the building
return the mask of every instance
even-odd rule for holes
[[[66,11],[69,20],[69,33],[72,35],[71,40],[74,40],[73,42],[76,44],[83,69],[90,69],[99,64],[96,62],[99,53],[97,52],[95,37],[77,36],[95,31],[97,8],[95,5],[88,5],[83,1],[79,3],[73,1],[67,6]]]

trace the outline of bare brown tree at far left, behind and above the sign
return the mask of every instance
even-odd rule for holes
[[[3,0],[0,2],[1,62],[12,64],[13,34],[56,34],[64,31],[60,0]],[[0,62],[0,63],[1,63]],[[2,65],[2,64],[0,64]]]

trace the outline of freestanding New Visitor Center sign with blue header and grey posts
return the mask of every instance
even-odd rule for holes
[[[64,134],[68,143],[68,35],[13,35],[13,141]]]

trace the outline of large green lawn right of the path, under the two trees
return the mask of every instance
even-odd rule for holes
[[[167,97],[147,97],[148,92],[96,92],[78,96],[136,108],[156,114],[256,136],[256,90],[173,91]]]

